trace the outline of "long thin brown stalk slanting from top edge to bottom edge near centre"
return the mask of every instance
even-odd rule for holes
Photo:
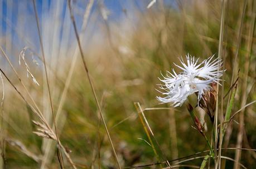
[[[114,156],[115,156],[115,160],[117,161],[118,167],[121,169],[121,165],[119,163],[119,160],[118,160],[118,157],[117,157],[117,153],[115,152],[115,148],[114,148],[114,145],[113,145],[110,133],[108,131],[107,123],[105,122],[105,119],[104,119],[104,116],[103,116],[103,113],[102,113],[102,108],[100,107],[100,104],[99,104],[99,101],[98,101],[98,97],[96,96],[96,92],[95,92],[95,89],[94,89],[94,86],[93,86],[93,82],[91,81],[91,77],[90,77],[90,74],[89,74],[89,69],[88,69],[88,67],[86,65],[86,62],[85,62],[84,52],[83,52],[83,50],[81,48],[81,43],[80,43],[80,38],[79,38],[79,35],[78,35],[78,30],[76,28],[75,18],[74,18],[72,9],[71,9],[71,0],[67,0],[67,1],[68,1],[67,3],[68,3],[68,6],[69,6],[69,12],[70,12],[71,21],[72,21],[73,26],[74,26],[75,36],[76,36],[76,40],[78,41],[80,56],[81,56],[81,59],[83,61],[83,65],[84,65],[84,68],[85,68],[86,76],[87,76],[87,78],[89,80],[89,83],[90,83],[90,86],[91,86],[91,90],[93,92],[93,96],[94,96],[96,105],[97,105],[98,110],[100,112],[100,117],[102,118],[105,130],[107,132],[107,135],[108,135],[108,138],[109,138],[109,142],[111,144],[111,147],[112,147],[112,150],[113,150],[113,153],[114,153]]]

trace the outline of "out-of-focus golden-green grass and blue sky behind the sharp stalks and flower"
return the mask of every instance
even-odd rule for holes
[[[144,113],[161,146],[161,150],[156,146],[157,152],[160,155],[163,153],[161,156],[173,160],[207,150],[204,139],[191,127],[193,123],[185,106],[172,108],[168,104],[159,105],[156,96],[160,93],[155,89],[160,83],[158,77],[161,77],[161,72],[165,74],[166,70],[175,68],[172,63],[178,63],[178,57],[185,57],[185,54],[190,53],[192,56],[200,57],[202,61],[212,54],[218,54],[223,4],[221,1],[199,0],[157,1],[147,9],[149,2],[73,1],[73,11],[78,23],[85,59],[123,167],[158,161],[152,147],[146,142],[147,135],[139,121],[134,102],[141,103],[142,108],[155,108]],[[85,27],[84,15],[90,3],[93,4]],[[256,8],[253,0],[226,0],[224,3],[222,53],[223,67],[226,69],[224,93],[228,92],[231,86],[234,64],[240,69],[238,91],[232,111],[234,113],[242,107],[242,100],[245,99],[246,103],[250,103],[256,99],[254,43]],[[38,1],[36,4],[40,16],[46,64],[49,68],[54,112],[56,113],[61,107],[56,121],[60,140],[71,151],[70,156],[78,167],[98,168],[99,130],[102,168],[116,168],[104,126],[98,120],[98,108],[86,78],[80,53],[76,49],[77,41],[67,4],[65,1]],[[46,119],[52,123],[32,1],[2,0],[0,9],[2,9],[0,10],[0,45],[15,65],[19,76],[26,83]],[[240,27],[241,23],[243,27]],[[241,38],[239,38],[240,28]],[[28,48],[26,61],[40,86],[36,86],[30,77],[26,77],[26,68],[23,64],[18,65],[18,56],[24,47]],[[237,51],[238,59],[234,62]],[[38,62],[38,66],[35,62]],[[71,68],[73,62],[74,70]],[[1,57],[1,68],[27,97],[3,57]],[[68,74],[72,70],[74,72],[70,76],[70,84],[66,84],[66,95],[63,95]],[[37,117],[6,79],[3,78],[3,81],[5,95],[4,108],[1,111],[1,138],[5,140],[4,158],[7,168],[59,168],[55,143],[32,133],[36,130],[32,120],[36,120]],[[3,92],[2,87],[1,91]],[[243,95],[245,98],[242,98]],[[225,98],[224,107],[227,102],[228,98]],[[244,148],[256,147],[255,108],[255,105],[251,105],[243,112],[242,147]],[[201,114],[204,118],[204,112]],[[212,126],[207,116],[205,121],[207,134],[210,136]],[[230,123],[223,147],[236,146],[238,122],[239,116],[236,116],[235,121]],[[223,153],[225,156],[235,158],[235,150],[227,150]],[[240,162],[245,167],[256,167],[255,151],[241,153]],[[39,162],[36,162],[35,158],[39,158]],[[69,168],[70,165],[65,157],[64,161],[65,166]],[[201,161],[201,159],[191,160],[182,164],[200,166]],[[233,163],[226,161],[225,167],[233,168]],[[152,166],[152,168],[159,167]]]

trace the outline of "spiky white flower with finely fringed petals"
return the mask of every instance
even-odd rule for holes
[[[187,64],[181,58],[182,66],[178,68],[183,72],[176,73],[172,69],[172,73],[167,71],[166,77],[160,79],[165,84],[160,84],[160,88],[164,91],[161,92],[165,97],[157,96],[157,100],[162,103],[171,102],[174,107],[181,106],[187,97],[195,92],[198,92],[198,102],[201,100],[204,92],[211,89],[212,82],[218,83],[219,77],[223,75],[223,71],[219,71],[221,60],[218,58],[212,61],[214,56],[205,59],[203,62],[198,63],[199,59],[189,56],[187,54]]]

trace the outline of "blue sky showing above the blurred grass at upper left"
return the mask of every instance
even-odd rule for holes
[[[103,3],[105,8],[107,8],[109,11],[108,22],[122,23],[125,16],[124,9],[127,11],[129,16],[132,16],[134,14],[134,11],[139,10],[141,12],[145,12],[146,10],[156,9],[157,4],[154,4],[152,9],[147,9],[147,4],[150,1],[151,0],[106,0],[103,1]],[[165,0],[163,2],[166,5],[175,6],[176,1]],[[73,3],[76,23],[78,24],[78,28],[80,28],[83,21],[83,13],[85,11],[88,1],[75,0],[73,1]],[[46,39],[46,41],[48,42],[51,41],[51,33],[55,26],[55,21],[52,17],[54,17],[58,5],[61,6],[60,12],[58,14],[60,15],[59,20],[61,21],[59,32],[60,34],[62,34],[62,31],[65,29],[65,21],[67,22],[67,19],[70,19],[70,16],[68,16],[69,12],[66,12],[66,0],[36,1],[36,7],[38,16],[40,18],[42,33],[46,32],[44,39]],[[101,35],[99,35],[99,32],[96,33],[98,34],[98,36],[95,37],[95,32],[99,31],[100,28],[99,23],[103,22],[103,18],[100,16],[99,12],[98,0],[94,1],[94,6],[91,13],[92,15],[94,14],[93,17],[96,17],[96,19],[94,18],[95,20],[90,21],[90,23],[88,24],[88,39],[93,39],[93,36],[94,39],[100,38]],[[25,46],[28,46],[29,43],[27,43],[27,41],[32,42],[35,51],[40,51],[32,0],[0,0],[0,19],[0,36],[2,39],[5,38],[4,41],[0,41],[0,45],[3,48],[9,49],[7,53],[9,53],[10,55],[15,54],[12,53],[12,48],[23,48]],[[130,22],[133,22],[133,20],[130,20]],[[65,34],[65,36],[74,37],[74,31],[71,29],[70,33]],[[12,41],[7,41],[6,39],[8,38],[12,39]],[[47,46],[47,43],[45,45]],[[49,47],[51,47],[51,45]]]

